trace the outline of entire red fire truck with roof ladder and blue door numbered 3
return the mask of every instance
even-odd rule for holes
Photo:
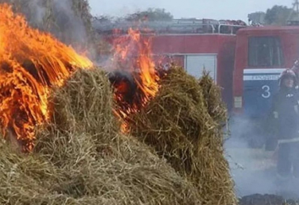
[[[123,33],[130,23],[95,24],[101,35]],[[154,55],[173,59],[195,77],[205,68],[222,87],[222,98],[233,115],[261,120],[267,115],[280,72],[299,56],[299,27],[254,27],[241,21],[180,19],[147,22]],[[149,32],[152,31],[153,33]]]

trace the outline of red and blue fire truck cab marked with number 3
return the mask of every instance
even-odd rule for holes
[[[299,27],[246,27],[237,31],[233,113],[263,118],[278,77],[299,55]]]

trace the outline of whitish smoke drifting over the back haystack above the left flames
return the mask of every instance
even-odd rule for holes
[[[25,14],[32,27],[50,32],[75,49],[77,46],[88,45],[85,22],[81,14],[73,10],[72,0],[11,0],[11,3],[18,3],[21,6],[21,12]],[[45,25],[47,18],[54,22]],[[93,48],[84,48],[86,49],[91,49],[89,53],[93,53]]]

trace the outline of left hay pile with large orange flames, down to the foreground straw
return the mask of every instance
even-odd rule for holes
[[[118,133],[103,71],[10,6],[0,15],[1,133],[26,153],[0,142],[0,204],[200,204],[193,184]]]

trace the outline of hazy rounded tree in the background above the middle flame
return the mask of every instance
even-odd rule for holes
[[[169,12],[166,12],[165,9],[160,8],[149,8],[143,12],[136,12],[134,14],[129,14],[125,17],[125,20],[129,21],[139,21],[139,20],[172,20],[172,16]]]

